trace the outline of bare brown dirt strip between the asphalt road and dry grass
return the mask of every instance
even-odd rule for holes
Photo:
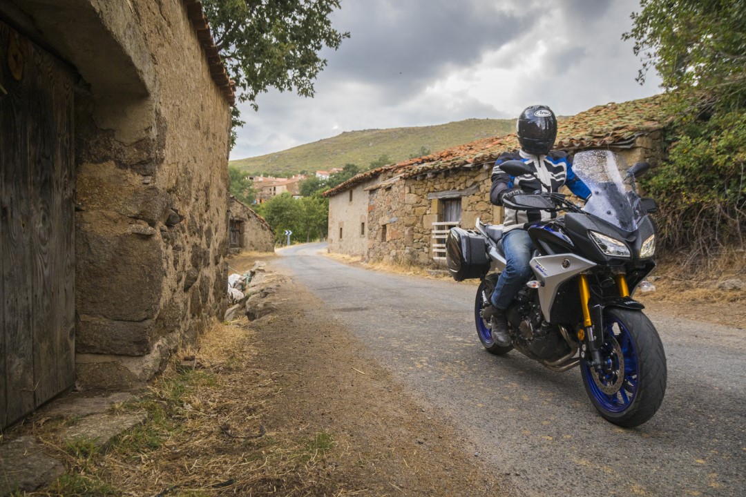
[[[404,393],[321,301],[290,281],[282,287],[276,317],[249,325],[257,327],[257,369],[270,372],[278,389],[263,423],[305,437],[329,434],[333,447],[316,478],[279,495],[507,495],[499,470],[483,465],[442,414]]]

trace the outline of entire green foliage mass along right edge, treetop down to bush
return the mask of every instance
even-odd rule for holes
[[[746,247],[746,0],[641,0],[633,28],[642,60],[674,97],[668,156],[642,179],[656,199],[660,246],[708,268]],[[742,265],[743,263],[740,262]]]

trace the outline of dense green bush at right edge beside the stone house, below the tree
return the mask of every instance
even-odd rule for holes
[[[719,113],[673,127],[666,162],[642,186],[659,204],[662,248],[689,262],[742,248],[746,231],[746,121]]]

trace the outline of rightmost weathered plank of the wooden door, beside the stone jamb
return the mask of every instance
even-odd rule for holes
[[[72,203],[63,203],[63,181],[72,168],[69,153],[72,129],[72,78],[53,57],[34,50],[28,86],[35,98],[29,103],[31,135],[29,169],[31,171],[31,329],[34,336],[34,403],[43,404],[64,390],[72,379],[66,361],[66,305],[62,300],[66,287],[63,230],[66,212]],[[67,296],[71,297],[71,296]]]

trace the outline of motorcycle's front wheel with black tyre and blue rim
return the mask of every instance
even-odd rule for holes
[[[656,413],[665,395],[663,344],[653,323],[640,311],[604,312],[602,371],[586,361],[580,367],[586,393],[601,416],[615,425],[642,425]]]

